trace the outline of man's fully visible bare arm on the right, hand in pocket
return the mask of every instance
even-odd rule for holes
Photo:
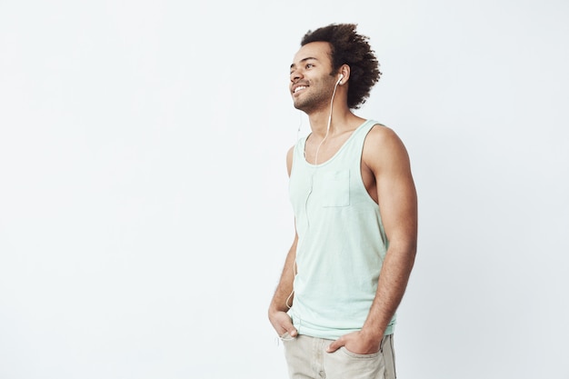
[[[401,303],[414,265],[417,195],[404,144],[393,130],[376,126],[365,140],[363,160],[375,177],[377,203],[389,247],[363,328],[334,341],[328,347],[329,353],[341,346],[355,354],[379,351],[385,329]]]

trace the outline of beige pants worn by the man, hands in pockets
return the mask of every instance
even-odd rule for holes
[[[283,336],[284,357],[291,379],[395,379],[393,334],[385,335],[379,352],[354,354],[344,347],[326,353],[332,340]]]

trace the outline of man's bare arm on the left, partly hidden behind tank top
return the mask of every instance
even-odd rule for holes
[[[291,148],[286,156],[286,166],[289,176],[291,174],[292,164],[293,149]],[[292,306],[294,299],[293,282],[297,243],[298,234],[294,233],[294,241],[288,251],[288,254],[286,255],[281,279],[279,281],[279,284],[276,286],[273,300],[269,305],[269,321],[271,324],[273,324],[273,327],[275,328],[275,331],[278,335],[283,335],[285,332],[288,332],[291,336],[295,336],[297,334],[291,318],[287,314],[287,311]]]

